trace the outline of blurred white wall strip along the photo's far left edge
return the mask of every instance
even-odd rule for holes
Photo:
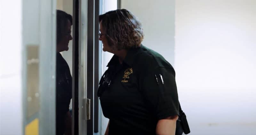
[[[22,134],[21,16],[21,0],[0,1],[1,135]]]

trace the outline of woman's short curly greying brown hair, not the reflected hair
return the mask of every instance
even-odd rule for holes
[[[108,11],[99,16],[99,21],[106,30],[105,35],[111,48],[137,48],[144,38],[140,21],[126,9]]]

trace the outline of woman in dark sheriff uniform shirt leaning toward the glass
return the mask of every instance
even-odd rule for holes
[[[130,11],[109,11],[99,21],[103,51],[114,54],[98,89],[109,118],[105,134],[174,135],[179,101],[171,64],[141,45],[142,26]]]

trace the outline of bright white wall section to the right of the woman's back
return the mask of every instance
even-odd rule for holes
[[[178,0],[175,70],[191,135],[256,132],[256,1]]]

